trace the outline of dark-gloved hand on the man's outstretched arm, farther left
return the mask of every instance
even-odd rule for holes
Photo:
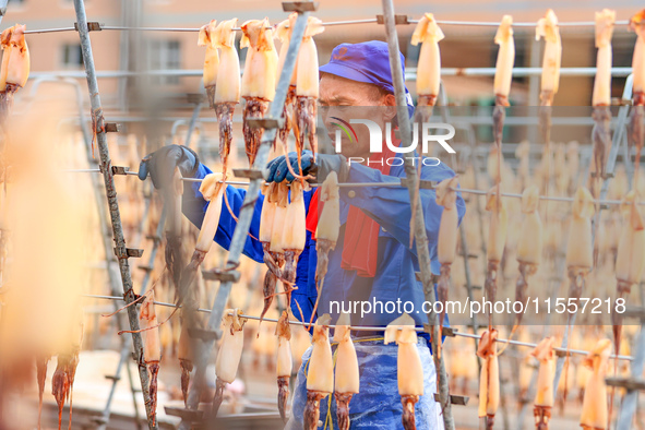
[[[168,145],[146,155],[139,165],[139,179],[142,181],[148,174],[156,189],[164,189],[170,183],[175,167],[179,167],[181,176],[192,178],[200,166],[198,154],[189,147]]]

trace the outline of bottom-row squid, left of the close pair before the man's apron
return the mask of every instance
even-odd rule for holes
[[[307,370],[307,404],[304,406],[304,430],[315,430],[320,417],[320,401],[334,391],[334,361],[326,325],[331,316],[325,313],[313,326],[311,358]]]

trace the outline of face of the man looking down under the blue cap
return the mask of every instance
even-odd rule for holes
[[[369,119],[385,130],[385,122],[394,117],[394,96],[383,95],[372,84],[350,81],[333,74],[323,73],[320,80],[320,112],[327,135],[335,142],[337,122],[341,118],[347,122],[350,119]],[[346,157],[369,157],[370,135],[367,127],[354,127],[357,139],[350,142],[345,133],[342,136],[342,154]]]

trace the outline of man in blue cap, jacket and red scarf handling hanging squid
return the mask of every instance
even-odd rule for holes
[[[403,55],[401,55],[403,64]],[[361,44],[342,44],[334,48],[332,59],[320,68],[320,106],[324,126],[332,140],[335,134],[333,122],[348,110],[369,118],[386,130],[386,122],[396,123],[396,103],[392,84],[387,45],[383,41]],[[407,93],[408,111],[414,111],[411,98]],[[341,118],[342,119],[342,118]],[[337,123],[337,122],[336,122]],[[354,126],[354,141],[343,136],[341,154],[302,155],[304,175],[315,175],[322,181],[324,172],[336,171],[339,182],[399,183],[405,177],[402,159],[409,154],[392,152],[383,144],[383,152],[370,153],[370,141],[366,138],[367,127]],[[394,133],[394,132],[393,132]],[[391,136],[393,144],[399,141]],[[291,166],[297,166],[296,153],[289,153]],[[363,163],[360,163],[363,159]],[[357,162],[358,160],[358,162]],[[385,162],[385,163],[383,163]],[[417,162],[419,163],[419,162]],[[443,163],[421,164],[421,179],[441,181],[455,174]],[[150,172],[155,187],[165,187],[175,166],[189,178],[204,178],[211,169],[199,162],[198,155],[188,147],[166,146],[142,160],[140,178]],[[279,156],[266,166],[267,181],[292,181],[295,178],[287,168],[287,159]],[[186,182],[184,182],[186,183]],[[184,215],[201,227],[207,202],[199,192],[199,183],[184,186],[182,210]],[[228,202],[236,216],[244,200],[246,190],[232,186],[226,188]],[[315,189],[304,192],[307,210],[307,242],[300,255],[296,287],[291,296],[296,318],[309,322],[318,296],[314,282],[316,266],[315,232],[318,220],[318,194]],[[437,261],[437,238],[442,206],[435,203],[433,190],[421,189],[420,200],[423,208],[428,247],[432,259],[432,273],[439,274]],[[246,239],[243,253],[263,262],[262,244],[259,237],[260,214],[264,196],[259,195],[255,203],[250,235]],[[461,195],[457,200],[459,222],[465,214],[465,204]],[[353,325],[385,326],[403,312],[392,309],[389,303],[410,302],[414,310],[406,309],[416,324],[427,323],[422,311],[423,289],[416,279],[419,271],[416,244],[409,247],[410,200],[404,187],[357,187],[341,188],[341,232],[336,249],[330,253],[329,272],[321,287],[321,298],[316,316],[324,313],[332,315],[332,323],[338,316],[337,307],[332,301],[361,302],[375,304],[370,312],[357,311],[351,314]],[[288,223],[288,219],[285,219]],[[235,218],[227,210],[222,211],[215,241],[228,249],[236,227]],[[296,303],[297,302],[297,303]],[[383,306],[379,308],[379,302]],[[399,304],[401,307],[401,304]],[[384,308],[384,309],[383,309]],[[315,318],[314,318],[315,319]],[[355,332],[354,342],[359,360],[360,392],[349,404],[353,428],[395,429],[402,428],[402,404],[397,390],[397,346],[384,345],[383,333]],[[419,429],[442,429],[441,407],[433,398],[437,392],[435,370],[427,337],[419,337],[418,349],[423,362],[425,395],[416,406],[416,420]],[[291,416],[288,429],[301,429],[303,408],[307,399],[307,363],[311,354],[309,348],[302,357],[298,371]],[[331,404],[331,410],[329,410]],[[336,406],[333,396],[321,402],[321,421],[327,428],[337,428]],[[326,422],[326,423],[325,423]]]

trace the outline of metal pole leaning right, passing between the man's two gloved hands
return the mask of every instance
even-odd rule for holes
[[[285,63],[279,76],[279,81],[275,92],[275,97],[268,108],[268,118],[279,118],[283,114],[283,107],[285,105],[285,100],[287,97],[289,82],[291,80],[294,68],[296,65],[296,59],[298,57],[298,51],[302,43],[302,36],[304,35],[304,29],[307,27],[308,16],[309,12],[299,13],[296,23],[294,24],[294,31],[289,43],[289,49],[287,51]],[[258,150],[258,155],[255,157],[255,164],[253,165],[253,168],[264,170],[264,165],[266,164],[266,160],[268,158],[270,145],[275,140],[276,133],[277,130],[274,128],[264,130],[262,143],[260,145],[260,148]],[[247,195],[244,196],[244,202],[238,216],[239,220],[230,242],[228,259],[226,262],[227,268],[237,266],[239,259],[242,254],[244,242],[247,241],[247,235],[249,232],[249,227],[251,226],[251,218],[253,216],[253,211],[255,208],[255,201],[258,200],[258,193],[260,192],[261,181],[263,181],[263,179],[253,179],[249,183],[249,190],[247,192]],[[222,321],[222,316],[224,314],[224,308],[226,307],[226,302],[228,301],[228,295],[230,294],[231,284],[231,282],[225,282],[220,284],[219,288],[217,289],[217,295],[213,303],[213,310],[208,318],[208,323],[206,327],[207,331],[217,333],[219,332],[219,324]],[[214,345],[214,338],[210,338],[207,341],[194,339],[195,374],[194,382],[188,396],[189,409],[198,408],[200,394],[202,391],[202,384],[204,382],[204,377],[206,372],[206,365],[208,363],[211,350],[213,349]],[[183,430],[188,430],[190,429],[190,427],[191,422],[186,418],[182,419],[181,425],[179,426],[179,428]]]

